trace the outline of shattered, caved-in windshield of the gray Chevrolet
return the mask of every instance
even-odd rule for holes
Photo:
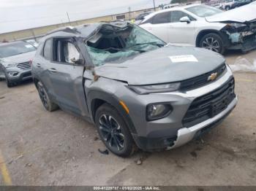
[[[165,42],[138,26],[125,28],[102,26],[86,42],[86,49],[95,66],[120,63],[126,58],[163,47]]]

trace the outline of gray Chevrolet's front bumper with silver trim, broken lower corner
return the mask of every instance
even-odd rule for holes
[[[216,126],[234,109],[238,102],[237,97],[233,98],[227,107],[225,107],[225,109],[223,109],[217,115],[203,120],[203,122],[201,121],[192,126],[187,126],[186,124],[182,123],[182,120],[184,119],[184,115],[187,113],[189,106],[193,101],[195,101],[195,99],[202,97],[203,95],[207,95],[208,93],[215,92],[219,89],[219,87],[222,87],[222,85],[230,82],[230,79],[232,78],[233,74],[231,70],[227,68],[227,72],[215,82],[203,87],[199,87],[195,90],[189,90],[184,93],[172,92],[151,94],[152,96],[156,96],[159,102],[166,102],[167,99],[173,100],[171,101],[171,104],[173,105],[174,109],[173,113],[168,117],[153,122],[143,123],[145,125],[140,125],[140,134],[132,134],[138,147],[147,151],[173,149],[186,144],[188,141],[191,141],[198,136],[198,134]],[[133,119],[132,121],[135,121]],[[138,125],[135,124],[135,127],[138,127]]]

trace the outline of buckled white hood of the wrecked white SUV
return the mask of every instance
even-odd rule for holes
[[[247,4],[236,9],[221,12],[217,15],[206,17],[208,22],[238,22],[244,23],[256,19],[256,4]]]

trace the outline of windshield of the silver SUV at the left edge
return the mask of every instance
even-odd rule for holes
[[[8,58],[8,57],[12,57],[12,56],[15,56],[15,55],[22,55],[22,54],[25,54],[27,52],[34,52],[34,51],[37,50],[37,47],[34,47],[29,42],[17,41],[17,42],[8,42],[8,43],[1,44],[0,45],[0,51],[1,51],[2,48],[4,48],[4,49],[9,48],[10,50],[8,50],[8,51],[11,51],[11,49],[13,49],[13,48],[15,49],[15,47],[17,47],[17,45],[20,46],[20,48],[23,48],[23,50],[26,49],[26,51],[20,51],[20,52],[5,54],[5,55],[1,55],[1,52],[0,52],[0,58]],[[23,47],[22,47],[22,45],[23,45]],[[29,47],[26,47],[26,46],[29,46]],[[16,48],[16,50],[17,50],[17,48]]]

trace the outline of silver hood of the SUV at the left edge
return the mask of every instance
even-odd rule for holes
[[[26,52],[20,55],[13,55],[7,58],[1,58],[2,64],[4,63],[25,63],[33,60],[36,51]]]

